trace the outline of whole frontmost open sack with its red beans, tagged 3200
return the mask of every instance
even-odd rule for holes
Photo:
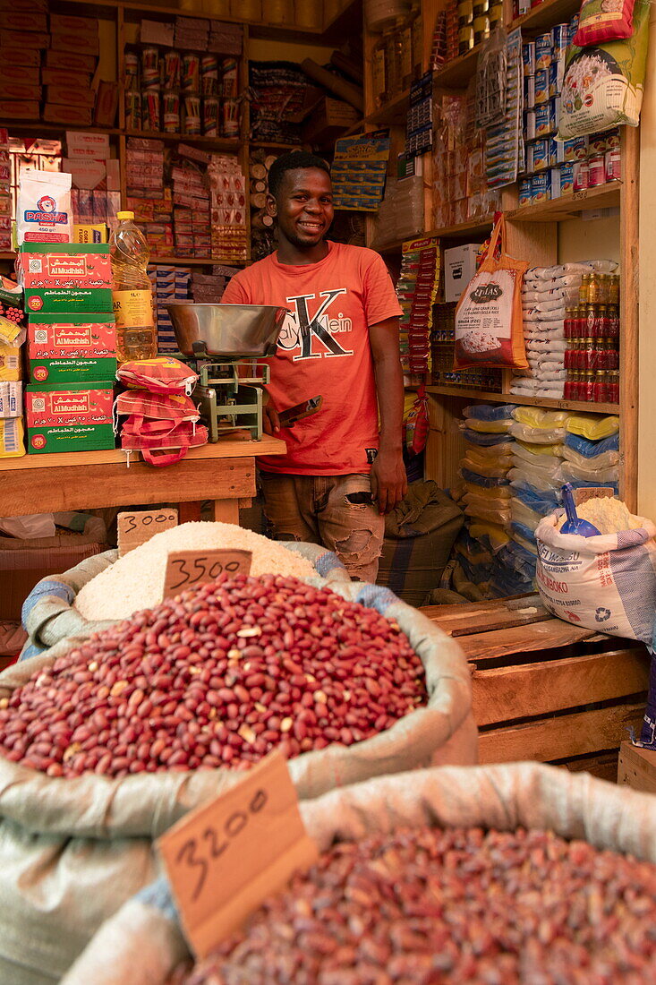
[[[302,803],[322,853],[216,952],[185,951],[164,879],[62,985],[650,980],[653,797],[536,762],[384,776]],[[492,892],[493,887],[493,892]]]

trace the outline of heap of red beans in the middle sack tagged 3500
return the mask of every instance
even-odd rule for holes
[[[295,578],[237,576],[96,633],[0,707],[0,755],[50,776],[247,768],[350,746],[426,703],[396,624]]]

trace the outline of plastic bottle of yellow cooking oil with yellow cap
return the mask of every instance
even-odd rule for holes
[[[158,352],[153,289],[146,273],[151,251],[134,212],[117,212],[116,218],[109,252],[118,361],[150,360]]]

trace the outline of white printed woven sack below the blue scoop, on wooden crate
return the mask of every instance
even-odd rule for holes
[[[539,524],[536,578],[545,607],[567,623],[651,645],[656,609],[656,527],[599,537],[558,531],[559,515]]]

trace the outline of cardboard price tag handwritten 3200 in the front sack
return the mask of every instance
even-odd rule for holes
[[[200,957],[319,854],[278,751],[174,824],[157,845],[185,936]]]

